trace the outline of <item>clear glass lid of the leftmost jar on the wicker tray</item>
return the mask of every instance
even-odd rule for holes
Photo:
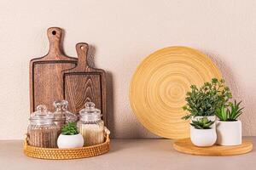
[[[47,111],[45,105],[38,105],[37,111],[31,114],[29,120],[38,123],[50,122],[54,120],[54,115]]]

